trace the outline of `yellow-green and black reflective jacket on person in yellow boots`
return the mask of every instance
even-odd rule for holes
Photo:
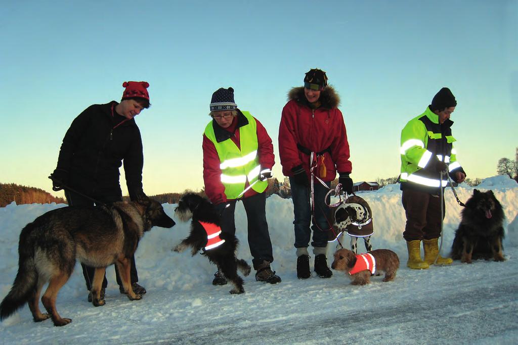
[[[439,116],[426,108],[425,112],[411,119],[401,131],[401,190],[418,189],[429,193],[439,192],[445,187],[448,176],[440,175],[435,169],[437,160],[449,166],[449,174],[455,180],[455,172],[464,170],[457,162],[451,133],[453,121],[447,119],[439,124]]]

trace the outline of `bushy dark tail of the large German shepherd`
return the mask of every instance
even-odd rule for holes
[[[33,246],[30,246],[28,243],[22,243],[24,242],[22,240],[23,232],[32,226],[32,224],[33,223],[28,224],[20,235],[18,273],[15,282],[12,284],[11,291],[9,291],[0,304],[0,321],[7,319],[18,309],[23,307],[36,293],[38,272],[36,271],[36,265],[34,263]]]

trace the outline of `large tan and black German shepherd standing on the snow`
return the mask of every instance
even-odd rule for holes
[[[174,220],[162,205],[147,197],[136,202],[106,206],[69,206],[54,209],[28,223],[20,233],[19,268],[11,291],[0,304],[0,320],[28,304],[35,322],[52,318],[55,326],[71,319],[57,313],[57,293],[74,270],[76,260],[96,267],[92,284],[93,305],[102,306],[100,290],[106,267],[115,263],[131,301],[141,299],[130,282],[131,258],[144,232],[158,226],[171,228]],[[48,313],[39,310],[39,296]]]

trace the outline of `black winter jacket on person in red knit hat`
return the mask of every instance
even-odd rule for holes
[[[57,168],[68,172],[68,184],[92,198],[122,194],[119,168],[130,198],[142,192],[142,139],[135,119],[118,123],[116,101],[93,104],[77,116],[61,145]]]

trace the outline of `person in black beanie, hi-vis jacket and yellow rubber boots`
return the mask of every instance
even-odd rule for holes
[[[438,239],[442,223],[440,188],[444,189],[448,183],[446,174],[457,183],[466,178],[453,148],[455,138],[450,116],[456,106],[450,89],[443,87],[425,112],[411,119],[401,131],[400,189],[407,217],[403,237],[408,248],[407,266],[413,269],[452,263],[452,259],[438,256]],[[421,241],[424,260],[421,259]]]

